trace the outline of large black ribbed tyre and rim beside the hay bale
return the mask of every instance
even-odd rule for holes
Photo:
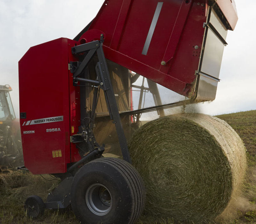
[[[135,223],[144,205],[144,183],[124,160],[95,159],[74,177],[71,206],[82,223]]]

